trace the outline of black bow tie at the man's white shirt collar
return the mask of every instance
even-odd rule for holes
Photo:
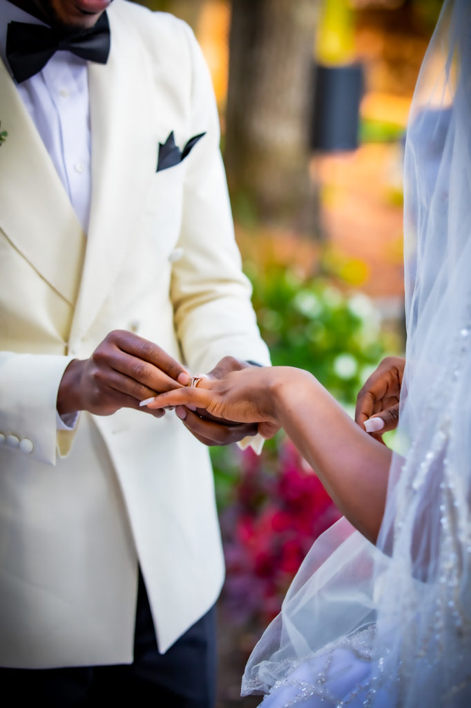
[[[110,53],[110,23],[106,13],[88,30],[63,33],[45,25],[10,22],[6,34],[6,57],[18,84],[45,67],[57,50],[106,64]]]

